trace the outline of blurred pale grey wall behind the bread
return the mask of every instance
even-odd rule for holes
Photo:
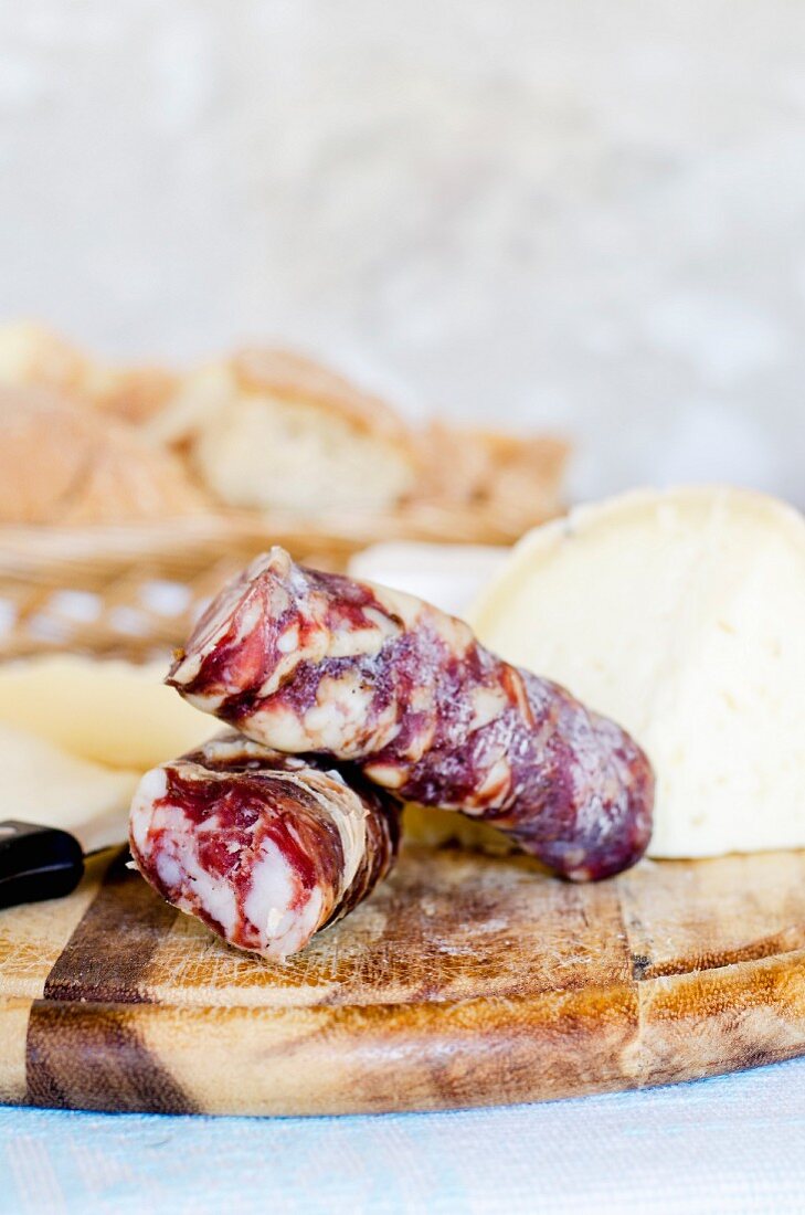
[[[0,0],[0,318],[805,504],[799,0]]]

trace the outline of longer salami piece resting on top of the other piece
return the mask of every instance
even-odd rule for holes
[[[280,548],[221,592],[168,683],[279,751],[351,761],[401,798],[484,819],[576,881],[627,869],[648,842],[651,765],[618,725],[461,621]]]

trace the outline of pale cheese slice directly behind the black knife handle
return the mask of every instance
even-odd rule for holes
[[[140,773],[89,763],[0,725],[0,818],[70,831],[85,852],[126,840]]]

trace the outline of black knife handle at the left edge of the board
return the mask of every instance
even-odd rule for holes
[[[0,908],[58,899],[84,874],[81,846],[69,831],[35,823],[0,823]]]

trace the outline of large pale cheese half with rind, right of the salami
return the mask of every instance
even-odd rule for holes
[[[639,491],[525,537],[469,614],[648,752],[653,857],[805,847],[805,519]]]

